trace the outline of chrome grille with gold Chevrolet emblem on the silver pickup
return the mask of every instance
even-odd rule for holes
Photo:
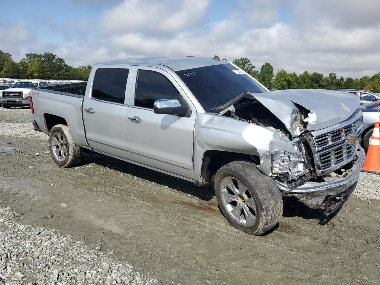
[[[363,117],[350,119],[311,133],[311,146],[317,174],[323,176],[350,162],[355,156],[363,130]]]

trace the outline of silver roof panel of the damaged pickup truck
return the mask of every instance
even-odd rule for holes
[[[97,63],[97,65],[109,63],[120,65],[158,64],[165,65],[174,71],[179,71],[209,65],[226,64],[228,62],[226,62],[225,60],[212,59],[210,57],[140,57],[135,59],[109,60]]]

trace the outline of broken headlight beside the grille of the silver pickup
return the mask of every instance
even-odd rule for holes
[[[308,172],[304,149],[301,142],[294,143],[299,152],[277,152],[272,154],[272,173],[287,179],[294,179]]]

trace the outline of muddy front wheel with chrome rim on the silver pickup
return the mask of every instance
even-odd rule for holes
[[[279,222],[283,202],[274,180],[249,161],[233,161],[215,175],[215,195],[224,217],[235,228],[261,235]]]

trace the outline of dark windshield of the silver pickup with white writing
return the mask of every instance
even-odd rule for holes
[[[176,71],[206,112],[242,93],[267,92],[247,74],[228,64],[210,65]]]

